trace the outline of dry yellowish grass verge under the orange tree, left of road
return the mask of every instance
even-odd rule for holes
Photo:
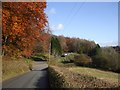
[[[2,58],[2,80],[7,80],[17,75],[30,71],[33,61],[26,58],[10,59]]]

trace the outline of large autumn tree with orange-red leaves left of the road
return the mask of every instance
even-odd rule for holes
[[[36,42],[48,40],[46,2],[2,3],[2,52],[30,57]],[[46,46],[47,48],[47,46]]]

